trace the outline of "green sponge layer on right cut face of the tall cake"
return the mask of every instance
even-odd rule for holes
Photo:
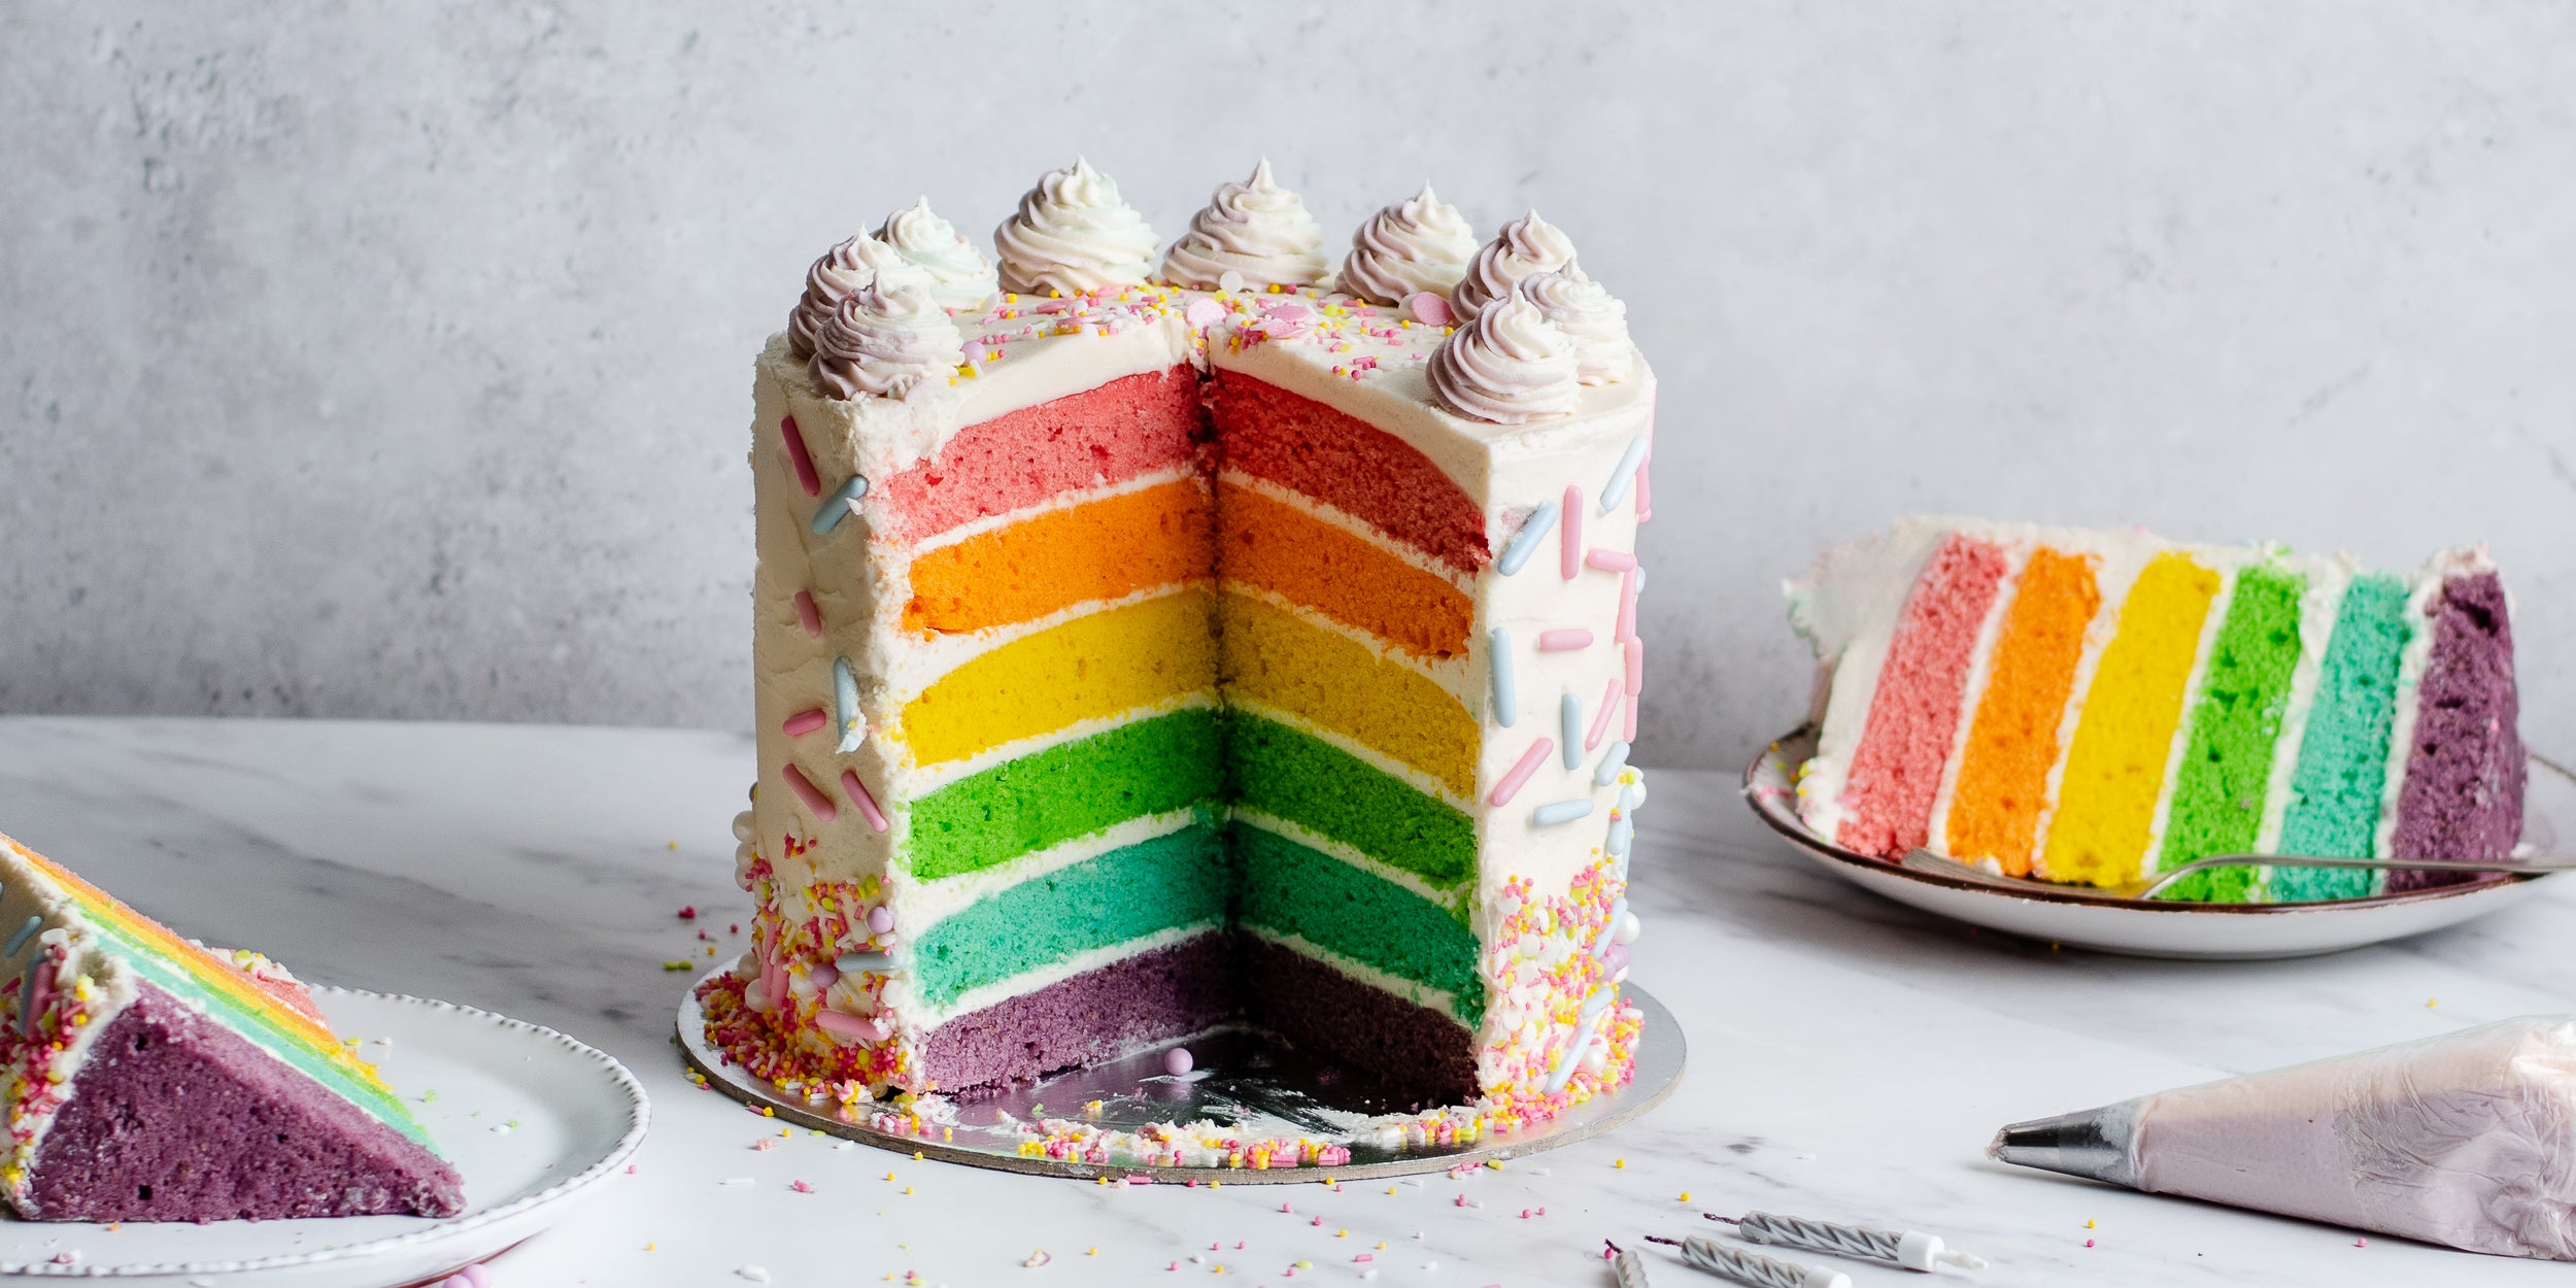
[[[1432,886],[1476,873],[1476,824],[1453,804],[1280,721],[1226,714],[1226,796],[1404,868]]]

